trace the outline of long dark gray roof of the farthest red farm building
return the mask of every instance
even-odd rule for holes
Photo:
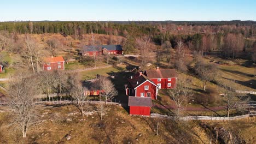
[[[96,46],[85,45],[85,46],[83,46],[83,49],[81,52],[100,51],[104,48],[107,50],[118,50],[118,51],[123,50],[121,45],[96,45]]]

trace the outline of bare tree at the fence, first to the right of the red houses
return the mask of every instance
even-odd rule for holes
[[[189,80],[185,77],[180,78],[177,81],[176,88],[170,89],[168,91],[169,96],[174,101],[177,107],[177,116],[180,116],[181,108],[190,100],[193,95],[189,86]]]

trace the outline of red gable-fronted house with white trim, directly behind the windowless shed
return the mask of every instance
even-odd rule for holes
[[[155,85],[142,72],[137,72],[128,79],[126,86],[126,95],[135,97],[151,97],[157,99],[159,87]]]

